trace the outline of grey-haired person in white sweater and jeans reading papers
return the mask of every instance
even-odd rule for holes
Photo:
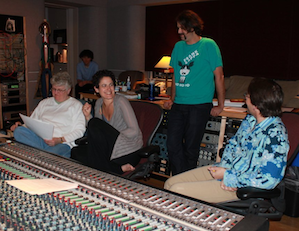
[[[53,138],[44,140],[26,126],[17,122],[12,127],[16,141],[47,152],[70,157],[74,141],[86,130],[82,103],[69,96],[72,80],[67,72],[58,72],[51,78],[53,97],[42,100],[30,116],[54,125]]]

